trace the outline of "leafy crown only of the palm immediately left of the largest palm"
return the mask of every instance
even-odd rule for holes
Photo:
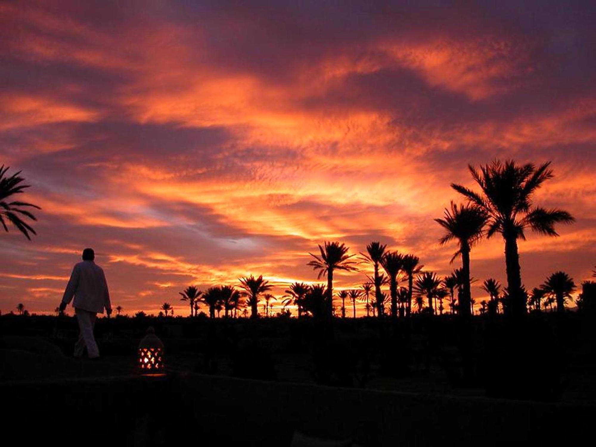
[[[474,204],[457,206],[453,202],[451,202],[451,210],[445,209],[443,219],[434,219],[437,224],[445,228],[445,235],[439,240],[441,245],[454,239],[460,244],[460,250],[455,252],[451,260],[461,254],[462,250],[469,250],[482,238],[487,219],[488,215],[481,207]]]

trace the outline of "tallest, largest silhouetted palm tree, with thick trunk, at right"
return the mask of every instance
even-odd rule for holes
[[[519,317],[526,312],[526,299],[522,290],[517,240],[525,240],[527,228],[549,236],[558,236],[555,224],[575,221],[568,212],[533,206],[533,195],[552,178],[550,162],[536,167],[532,163],[516,164],[513,160],[495,160],[480,170],[468,165],[472,178],[482,193],[458,184],[451,184],[455,191],[480,207],[488,215],[487,236],[499,233],[505,241],[505,266],[511,315]]]

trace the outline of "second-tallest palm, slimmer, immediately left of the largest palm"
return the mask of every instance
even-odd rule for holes
[[[483,235],[488,216],[479,207],[473,204],[460,205],[451,202],[451,210],[445,209],[443,219],[434,219],[437,224],[445,229],[445,234],[439,243],[445,245],[449,241],[457,240],[459,250],[455,252],[451,261],[461,255],[461,267],[464,274],[460,315],[470,316],[471,288],[470,288],[470,250]]]

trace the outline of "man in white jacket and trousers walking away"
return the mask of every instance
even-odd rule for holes
[[[95,343],[93,328],[97,313],[111,315],[110,293],[105,280],[103,269],[95,261],[93,249],[83,250],[83,262],[79,262],[73,268],[69,283],[64,290],[64,296],[60,302],[60,311],[64,311],[73,297],[77,321],[79,322],[79,339],[75,343],[75,357],[83,355],[83,349],[87,347],[89,358],[99,358],[100,350]]]

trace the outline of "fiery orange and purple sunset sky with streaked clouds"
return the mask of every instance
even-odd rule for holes
[[[249,274],[281,295],[316,281],[324,240],[379,240],[445,275],[460,261],[432,219],[495,157],[552,160],[536,203],[577,219],[520,243],[526,287],[588,279],[596,6],[479,4],[0,3],[0,164],[42,207],[33,241],[0,233],[0,310],[53,312],[84,247],[129,314],[187,315],[187,285]],[[474,247],[477,302],[505,282],[503,250]]]

